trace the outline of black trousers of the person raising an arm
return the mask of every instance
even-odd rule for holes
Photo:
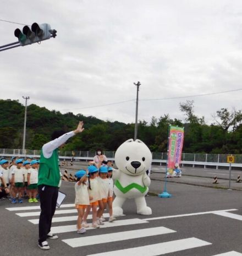
[[[58,198],[58,187],[47,185],[38,186],[40,195],[40,221],[38,222],[38,242],[46,241],[47,234],[51,231],[51,222],[56,211],[56,201]]]

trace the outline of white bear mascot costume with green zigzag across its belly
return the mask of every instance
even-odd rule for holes
[[[138,214],[152,214],[145,201],[150,186],[150,178],[146,171],[149,170],[152,161],[149,148],[139,139],[129,139],[119,146],[114,159],[118,170],[113,169],[116,195],[113,201],[113,215],[122,215],[124,201],[132,198],[135,199]]]

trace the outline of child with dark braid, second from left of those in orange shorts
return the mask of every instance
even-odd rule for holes
[[[98,190],[98,182],[97,182],[97,172],[98,169],[96,166],[91,165],[87,167],[87,170],[89,171],[89,176],[88,177],[88,182],[89,182],[89,187],[88,187],[88,193],[89,197],[92,199],[90,200],[90,205],[87,206],[85,214],[83,216],[83,227],[89,227],[89,225],[86,222],[87,215],[90,212],[90,209],[92,208],[92,227],[99,228],[100,226],[97,224],[97,205],[98,205],[98,200],[100,200],[100,194]]]

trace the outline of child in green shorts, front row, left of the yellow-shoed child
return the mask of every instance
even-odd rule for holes
[[[23,159],[18,159],[16,161],[17,168],[14,168],[12,171],[12,185],[13,185],[13,199],[12,204],[16,204],[17,200],[15,199],[18,194],[18,202],[23,203],[21,197],[24,187],[24,172],[23,172]]]

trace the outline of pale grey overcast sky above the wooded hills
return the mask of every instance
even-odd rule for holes
[[[222,107],[242,109],[241,0],[1,0],[0,19],[57,30],[56,39],[0,52],[1,99],[30,96],[49,110],[131,123],[140,81],[147,122],[184,120],[186,100],[208,124]],[[17,41],[16,28],[0,21],[0,45]],[[171,97],[184,98],[156,100]]]

